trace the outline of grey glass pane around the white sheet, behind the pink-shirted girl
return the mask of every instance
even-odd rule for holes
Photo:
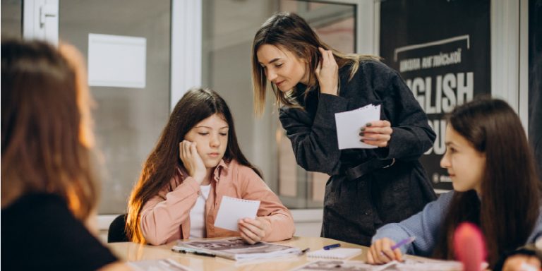
[[[127,8],[128,7],[128,8]],[[126,212],[142,164],[169,116],[170,1],[61,1],[59,37],[88,56],[88,35],[146,39],[145,88],[91,87],[101,150],[100,214]]]

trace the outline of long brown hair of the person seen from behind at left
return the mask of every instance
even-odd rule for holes
[[[85,220],[97,203],[90,170],[89,94],[82,57],[44,42],[1,44],[2,207],[54,193]]]

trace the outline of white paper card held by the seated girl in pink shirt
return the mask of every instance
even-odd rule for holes
[[[255,219],[258,207],[260,207],[260,200],[243,200],[224,195],[218,209],[215,227],[239,231],[237,225],[239,219],[246,217]]]

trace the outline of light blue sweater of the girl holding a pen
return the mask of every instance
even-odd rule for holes
[[[395,243],[406,239],[409,236],[416,236],[416,240],[408,245],[402,246],[404,254],[430,256],[436,246],[440,222],[445,219],[446,212],[452,201],[454,192],[448,192],[426,205],[421,212],[404,219],[399,223],[386,224],[380,227],[373,236],[373,242],[387,237]],[[534,243],[538,236],[542,235],[542,212],[538,215],[534,230],[526,243]]]

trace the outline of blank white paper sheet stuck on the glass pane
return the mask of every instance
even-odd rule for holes
[[[88,34],[88,84],[145,88],[147,39]]]

